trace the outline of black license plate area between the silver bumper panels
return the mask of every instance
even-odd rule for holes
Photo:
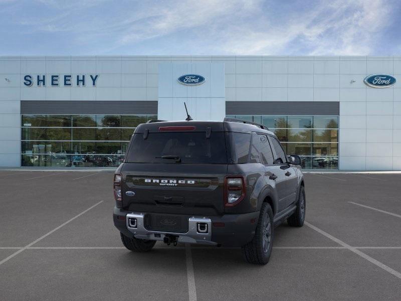
[[[144,227],[148,231],[186,233],[189,216],[148,213],[144,217]]]

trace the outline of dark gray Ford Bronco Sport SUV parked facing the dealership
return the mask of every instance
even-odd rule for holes
[[[114,175],[114,224],[124,246],[157,240],[240,246],[246,261],[269,261],[274,228],[305,219],[300,158],[273,132],[243,120],[140,124]]]

